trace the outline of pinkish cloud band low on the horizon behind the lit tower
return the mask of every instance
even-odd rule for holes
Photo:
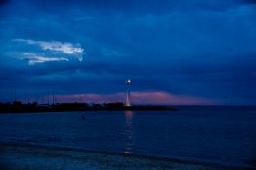
[[[125,101],[125,93],[114,94],[75,94],[57,95],[59,102],[122,102]],[[157,105],[214,105],[217,102],[205,98],[174,95],[164,91],[154,92],[132,92],[132,103],[134,104],[157,104]]]

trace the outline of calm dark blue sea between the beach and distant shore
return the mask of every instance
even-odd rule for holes
[[[0,142],[39,143],[244,167],[256,163],[255,107],[2,114],[0,122]]]

